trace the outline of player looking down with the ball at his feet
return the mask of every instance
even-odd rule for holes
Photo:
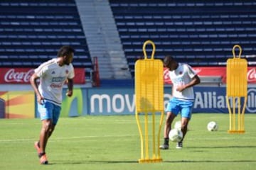
[[[164,67],[169,69],[169,77],[172,81],[172,98],[166,108],[166,123],[164,125],[164,145],[160,149],[169,149],[169,132],[171,123],[178,113],[181,113],[181,131],[183,139],[188,129],[188,122],[191,119],[194,94],[193,86],[200,83],[196,72],[188,64],[181,64],[174,60],[174,57],[164,57]],[[176,145],[177,149],[183,147],[183,139]]]

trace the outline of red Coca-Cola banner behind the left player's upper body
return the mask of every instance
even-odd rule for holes
[[[0,68],[0,84],[29,84],[34,69]],[[85,84],[85,69],[75,68],[74,84]]]

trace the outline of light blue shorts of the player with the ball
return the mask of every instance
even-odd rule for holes
[[[181,113],[181,118],[191,119],[192,108],[193,101],[183,101],[178,100],[177,98],[171,98],[167,105],[166,112],[174,113],[174,115]]]

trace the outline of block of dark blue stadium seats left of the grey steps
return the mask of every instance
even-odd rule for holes
[[[1,67],[38,67],[62,45],[71,45],[76,50],[74,66],[92,68],[75,0],[3,0],[0,5],[0,58],[23,59],[0,60]]]

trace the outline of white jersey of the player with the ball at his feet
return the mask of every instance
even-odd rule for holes
[[[188,84],[193,77],[196,76],[196,72],[188,64],[178,63],[178,68],[169,71],[169,77],[173,83],[172,86],[172,95],[175,98],[181,100],[193,100],[193,87],[188,87],[183,91],[176,91],[177,86]]]

